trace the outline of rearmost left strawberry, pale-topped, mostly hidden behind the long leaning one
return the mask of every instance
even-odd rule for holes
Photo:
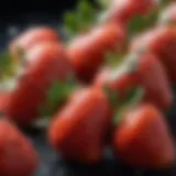
[[[23,50],[23,52],[28,52],[35,44],[45,42],[59,42],[59,36],[56,31],[47,26],[31,28],[16,36],[10,43],[9,50],[12,57],[19,61],[19,47]]]

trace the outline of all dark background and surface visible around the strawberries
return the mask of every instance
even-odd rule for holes
[[[31,25],[51,25],[59,29],[62,14],[73,9],[75,0],[1,0],[0,4],[0,47],[3,48],[13,36],[11,28],[23,31]],[[167,116],[172,131],[176,134],[175,108]],[[106,150],[103,160],[96,166],[64,162],[47,144],[45,131],[29,129],[25,132],[33,142],[41,157],[41,165],[35,176],[176,176],[176,167],[165,170],[146,170],[131,168],[113,157],[110,150]],[[176,136],[176,135],[175,135]]]

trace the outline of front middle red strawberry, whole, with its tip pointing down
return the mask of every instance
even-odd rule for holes
[[[81,90],[54,118],[48,130],[50,142],[66,160],[95,164],[101,158],[110,114],[101,89]]]

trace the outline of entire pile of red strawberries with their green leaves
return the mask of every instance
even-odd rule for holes
[[[99,4],[81,0],[65,14],[67,40],[35,26],[1,54],[0,175],[31,176],[38,157],[15,124],[29,128],[46,118],[48,141],[66,160],[96,164],[111,145],[130,166],[174,163],[164,112],[176,85],[176,3]]]

